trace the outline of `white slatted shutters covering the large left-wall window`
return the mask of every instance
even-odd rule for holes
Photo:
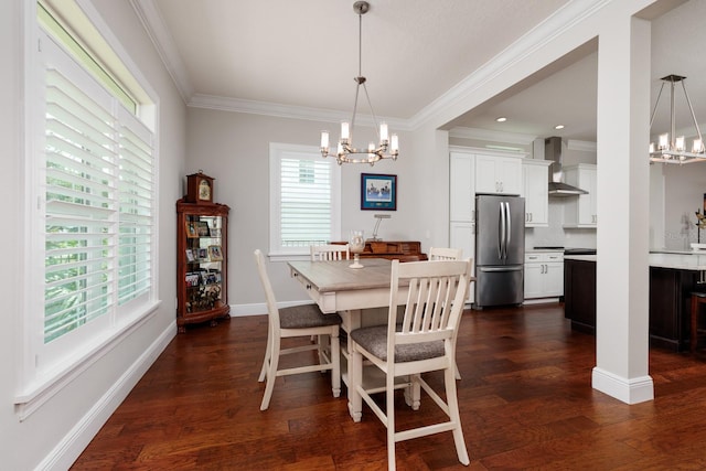
[[[150,295],[154,218],[151,132],[79,67],[47,64],[44,343]]]

